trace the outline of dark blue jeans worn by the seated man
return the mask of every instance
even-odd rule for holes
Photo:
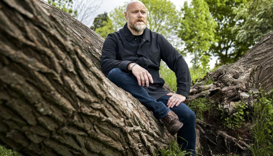
[[[184,125],[177,133],[177,143],[181,145],[181,149],[191,151],[192,156],[195,156],[195,113],[183,102],[173,108],[167,107],[169,96],[163,96],[156,100],[148,95],[147,91],[138,85],[137,78],[132,73],[126,73],[119,68],[112,69],[107,78],[115,83],[118,87],[131,93],[137,98],[148,110],[152,111],[154,117],[162,119],[171,109],[177,114],[179,121]]]

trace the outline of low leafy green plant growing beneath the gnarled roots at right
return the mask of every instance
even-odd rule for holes
[[[227,112],[222,108],[222,106],[218,105],[218,110],[221,111],[221,118],[224,118],[224,126],[235,129],[235,128],[241,128],[241,125],[243,121],[245,121],[245,118],[249,114],[248,111],[246,111],[246,108],[248,106],[247,103],[244,103],[243,101],[235,102],[235,112],[232,115],[228,115]]]

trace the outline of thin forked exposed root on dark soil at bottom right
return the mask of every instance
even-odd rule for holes
[[[228,150],[229,150],[229,148],[228,148],[227,141],[231,141],[231,142],[235,143],[235,145],[237,145],[242,150],[249,148],[249,145],[247,145],[247,143],[245,143],[245,141],[238,140],[235,137],[229,136],[226,132],[217,131],[217,135],[222,136],[224,138],[225,145]]]

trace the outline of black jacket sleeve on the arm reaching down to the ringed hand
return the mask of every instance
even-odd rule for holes
[[[186,61],[163,36],[160,45],[162,60],[175,72],[177,82],[176,93],[188,97],[191,87],[191,75]]]

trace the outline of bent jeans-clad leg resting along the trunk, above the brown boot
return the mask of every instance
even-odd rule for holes
[[[138,85],[137,78],[133,74],[115,68],[109,72],[107,78],[118,87],[131,93],[133,97],[137,98],[148,110],[153,112],[155,118],[162,119],[169,112],[169,108],[167,108],[165,104],[156,101],[155,98],[148,95],[142,86]]]

